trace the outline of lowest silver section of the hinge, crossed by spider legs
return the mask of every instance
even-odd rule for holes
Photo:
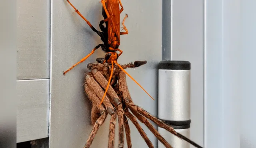
[[[171,146],[173,148],[190,148],[190,144],[188,142],[186,142],[186,141],[184,141],[184,140],[174,136],[174,134],[171,134],[170,132],[168,132],[164,128],[158,127],[158,132],[166,139],[166,141],[169,144],[171,144]],[[190,128],[187,128],[187,129],[177,129],[176,132],[179,132],[183,136],[186,136],[187,138],[189,138]],[[158,148],[166,148],[166,147],[164,146],[164,144],[162,144],[158,140]]]

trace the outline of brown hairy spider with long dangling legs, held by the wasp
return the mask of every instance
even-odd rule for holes
[[[97,61],[100,60],[98,59]],[[146,63],[146,61],[135,61],[134,63],[121,66],[123,69],[134,68]],[[164,124],[164,122],[152,116],[149,112],[135,105],[128,91],[126,74],[116,65],[114,65],[113,77],[110,83],[111,86],[108,88],[107,95],[104,98],[103,104],[100,105],[101,98],[103,97],[104,91],[108,84],[107,80],[109,78],[111,65],[108,63],[89,63],[87,67],[91,70],[91,72],[86,73],[84,88],[90,101],[92,101],[91,122],[94,126],[90,132],[90,136],[86,141],[84,148],[90,147],[98,131],[98,128],[106,119],[107,114],[111,115],[109,124],[108,148],[114,148],[116,115],[118,116],[118,148],[124,147],[124,130],[126,134],[127,146],[128,148],[132,148],[130,127],[127,118],[132,121],[149,148],[153,148],[154,146],[142,127],[139,125],[137,119],[144,123],[148,129],[156,136],[156,138],[158,138],[158,140],[160,140],[160,142],[166,146],[166,148],[172,148],[172,146],[159,134],[159,132],[152,126],[152,124],[150,124],[148,119],[153,121],[159,127],[168,130],[175,136],[189,142],[197,148],[202,148],[195,142],[176,132],[171,126]]]

